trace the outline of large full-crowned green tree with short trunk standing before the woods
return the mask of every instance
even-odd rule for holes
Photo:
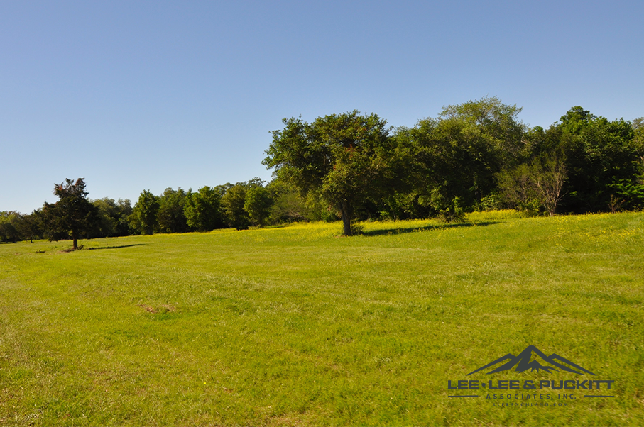
[[[273,143],[263,164],[306,195],[319,191],[340,212],[344,234],[351,235],[351,219],[361,204],[378,198],[394,184],[393,145],[386,121],[358,111],[319,117],[313,123],[284,119],[285,128],[273,131]]]

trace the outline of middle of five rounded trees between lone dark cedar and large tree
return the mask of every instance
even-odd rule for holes
[[[212,231],[224,226],[222,196],[217,189],[205,186],[196,193],[188,190],[184,212],[187,225],[197,231]]]

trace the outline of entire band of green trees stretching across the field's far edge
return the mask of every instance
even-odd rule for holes
[[[0,240],[94,238],[244,229],[293,221],[430,218],[519,209],[583,214],[644,208],[644,120],[609,121],[575,106],[549,128],[518,121],[497,98],[444,107],[392,128],[351,111],[285,118],[263,164],[271,182],[143,191],[131,201],[87,199],[84,180],[32,214],[0,213]],[[83,201],[84,200],[84,201]]]

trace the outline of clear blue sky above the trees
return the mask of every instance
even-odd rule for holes
[[[271,172],[284,117],[644,116],[644,1],[3,1],[0,211]]]

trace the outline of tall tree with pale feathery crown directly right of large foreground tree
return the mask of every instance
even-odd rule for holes
[[[519,112],[484,98],[447,106],[439,118],[421,120],[414,128],[399,128],[398,152],[405,153],[408,194],[415,195],[410,200],[416,204],[407,211],[444,216],[454,209],[454,198],[462,209],[474,209],[495,192],[494,174],[523,155]]]

